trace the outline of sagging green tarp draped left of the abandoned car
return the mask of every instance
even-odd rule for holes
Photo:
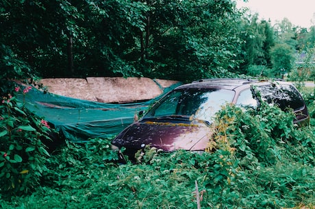
[[[28,110],[51,123],[66,139],[79,143],[89,138],[115,136],[134,121],[134,114],[147,110],[157,99],[179,84],[164,88],[164,93],[158,97],[138,103],[99,103],[45,94],[36,88],[19,97],[25,101]]]

